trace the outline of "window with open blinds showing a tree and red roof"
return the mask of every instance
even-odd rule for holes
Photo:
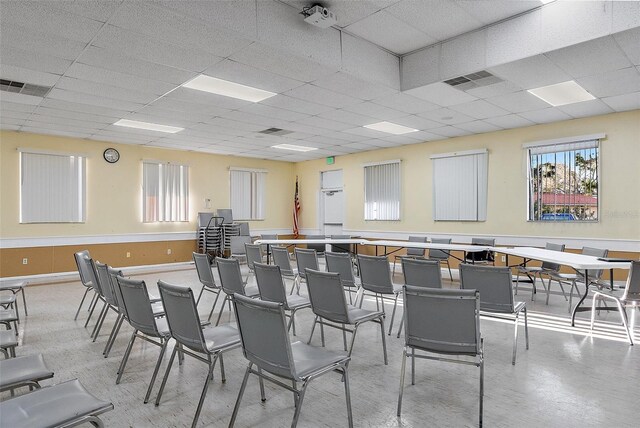
[[[525,145],[529,221],[597,221],[603,135]]]

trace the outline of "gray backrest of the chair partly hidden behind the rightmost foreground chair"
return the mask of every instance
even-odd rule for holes
[[[498,266],[460,265],[460,288],[480,292],[480,309],[513,313],[511,269]]]

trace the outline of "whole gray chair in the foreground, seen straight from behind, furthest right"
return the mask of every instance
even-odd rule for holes
[[[480,368],[479,425],[484,398],[484,347],[480,336],[480,296],[476,290],[440,290],[404,287],[404,334],[398,417],[402,411],[404,373],[411,357],[411,385],[415,385],[416,358],[473,365]],[[424,354],[417,354],[424,352]],[[435,354],[435,355],[434,355]],[[465,359],[451,358],[457,355]],[[470,360],[471,359],[471,360]],[[424,403],[420,403],[423,405]]]

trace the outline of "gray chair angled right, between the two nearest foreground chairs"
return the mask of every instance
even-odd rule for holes
[[[347,305],[344,297],[344,288],[340,281],[340,274],[334,272],[320,272],[307,269],[307,287],[309,288],[309,298],[311,299],[311,309],[316,317],[311,326],[311,335],[309,341],[311,343],[313,332],[316,324],[320,323],[320,337],[322,346],[324,347],[324,326],[333,327],[342,330],[342,340],[344,350],[347,351],[347,335],[351,333],[351,344],[348,348],[348,355],[351,356],[353,344],[356,340],[356,333],[360,324],[367,321],[373,321],[380,324],[380,333],[382,334],[382,351],[384,354],[384,363],[387,364],[387,342],[384,337],[384,312],[368,311],[366,309],[356,308]],[[347,328],[352,325],[353,330]]]

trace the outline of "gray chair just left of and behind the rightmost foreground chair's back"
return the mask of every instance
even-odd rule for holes
[[[375,296],[378,310],[380,310],[378,297],[382,300],[382,312],[385,313],[384,296],[394,296],[393,312],[391,313],[391,322],[389,323],[389,334],[391,334],[393,319],[396,315],[396,306],[398,305],[398,295],[402,292],[402,286],[391,281],[389,261],[385,256],[358,255],[358,266],[360,267],[360,279],[363,289],[362,296],[360,297],[360,307],[362,307],[364,295],[368,291]]]

